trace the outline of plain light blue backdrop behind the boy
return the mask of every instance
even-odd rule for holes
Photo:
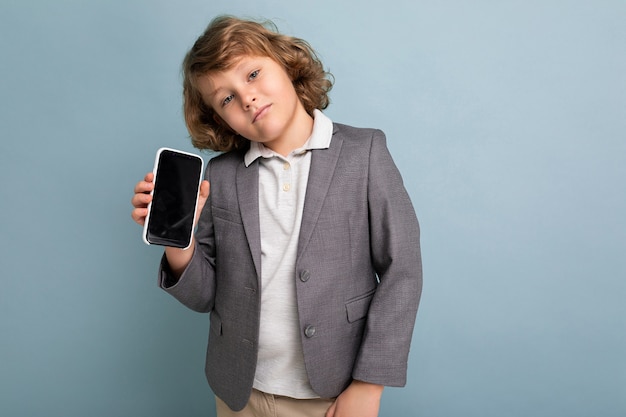
[[[404,389],[381,416],[626,415],[626,2],[2,0],[0,414],[212,416],[208,317],[130,218],[193,150],[180,62],[274,19],[383,129],[422,224]],[[205,158],[208,155],[204,155]]]

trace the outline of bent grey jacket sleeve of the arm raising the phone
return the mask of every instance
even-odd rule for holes
[[[210,181],[211,161],[205,179]],[[159,286],[188,308],[206,313],[213,309],[215,297],[215,237],[211,213],[211,196],[198,220],[193,256],[177,280],[170,271],[165,254],[159,267]]]

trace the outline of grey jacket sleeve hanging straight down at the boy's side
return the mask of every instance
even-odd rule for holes
[[[369,307],[353,378],[404,386],[422,291],[419,225],[380,131],[374,133],[371,143],[368,204],[371,261],[379,284]]]

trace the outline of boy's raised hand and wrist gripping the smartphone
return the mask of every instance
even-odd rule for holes
[[[133,210],[131,212],[131,217],[133,220],[143,226],[146,222],[146,216],[148,215],[148,204],[152,201],[152,195],[150,192],[154,189],[154,174],[149,172],[146,174],[142,181],[139,181],[135,185],[135,194],[131,200],[133,205]],[[200,184],[200,195],[198,196],[198,208],[196,209],[197,213],[202,212],[202,208],[209,197],[210,185],[209,182],[204,180]],[[198,215],[196,215],[196,222],[198,221]],[[191,248],[195,247],[195,238],[192,237]],[[169,264],[170,271],[172,274],[179,278],[193,256],[193,250],[184,250],[179,248],[166,247],[165,248],[165,257],[167,258],[167,262]]]

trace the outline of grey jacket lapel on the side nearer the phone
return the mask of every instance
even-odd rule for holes
[[[246,167],[243,160],[237,167],[237,198],[248,247],[261,279],[261,228],[259,225],[259,160]]]

